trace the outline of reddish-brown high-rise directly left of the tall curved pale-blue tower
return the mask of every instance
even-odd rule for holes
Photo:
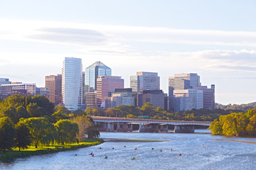
[[[49,101],[55,105],[62,103],[61,79],[61,74],[46,76],[46,88],[50,91]]]

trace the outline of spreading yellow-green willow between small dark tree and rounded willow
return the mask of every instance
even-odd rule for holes
[[[53,125],[49,123],[46,118],[21,118],[20,122],[28,126],[33,145],[35,145],[36,148],[39,143],[44,144],[46,138],[53,136]]]

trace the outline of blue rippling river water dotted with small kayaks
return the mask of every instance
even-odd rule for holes
[[[199,130],[198,132],[201,132]],[[103,132],[102,138],[171,140],[169,142],[105,142],[75,151],[58,152],[0,163],[0,169],[255,169],[256,145],[211,140],[255,138],[209,134]],[[124,147],[126,145],[126,147]],[[206,147],[201,147],[206,145]],[[223,146],[223,147],[222,147]],[[102,149],[98,149],[102,147]],[[114,147],[114,149],[112,149]],[[134,148],[137,147],[137,150]],[[154,150],[151,148],[154,147]],[[159,152],[162,149],[163,152]],[[173,149],[173,151],[171,151]],[[94,152],[95,157],[90,156]],[[178,157],[178,154],[182,154]],[[75,154],[78,154],[75,157]],[[108,159],[104,159],[105,154]],[[132,161],[131,157],[137,158]]]

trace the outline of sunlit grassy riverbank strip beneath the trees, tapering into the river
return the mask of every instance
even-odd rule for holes
[[[20,152],[18,151],[18,148],[13,148],[11,151],[6,152],[6,154],[1,152],[0,161],[11,161],[16,158],[29,157],[31,155],[51,154],[55,152],[74,150],[82,147],[100,145],[102,142],[104,142],[102,139],[87,139],[74,144],[39,146],[38,148],[31,146],[28,147],[28,149],[21,149]]]

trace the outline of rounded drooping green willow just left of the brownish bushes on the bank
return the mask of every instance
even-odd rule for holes
[[[65,143],[78,142],[76,136],[78,135],[79,128],[78,124],[71,120],[58,120],[54,124],[58,132],[58,143],[64,145]]]

